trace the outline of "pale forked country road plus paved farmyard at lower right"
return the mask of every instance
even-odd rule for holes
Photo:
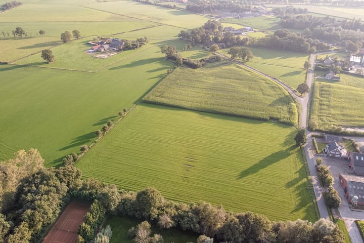
[[[314,65],[316,55],[329,54],[329,53],[334,53],[334,52],[316,53],[314,55],[311,55],[311,57],[310,57],[311,66],[313,67],[313,65]],[[238,65],[244,66],[245,68],[247,68],[253,72],[256,72],[260,75],[263,75],[264,77],[273,80],[274,82],[278,83],[283,88],[285,88],[292,95],[293,98],[296,98],[300,102],[301,108],[302,108],[302,110],[301,110],[301,128],[306,129],[307,116],[308,116],[308,105],[309,105],[311,93],[307,93],[305,95],[305,97],[299,97],[287,85],[280,82],[280,80],[278,80],[274,77],[271,77],[255,68],[247,66],[246,64],[244,64],[242,62],[236,61],[222,53],[217,52],[216,55],[220,56],[226,60],[229,60],[231,62],[234,62]],[[307,85],[308,85],[308,87],[310,87],[310,89],[312,86],[312,79],[313,79],[313,70],[309,70],[307,73]],[[319,212],[320,212],[321,218],[329,219],[329,213],[328,213],[328,209],[326,207],[325,199],[324,199],[324,195],[323,195],[323,188],[321,187],[319,179],[317,178],[317,172],[316,172],[316,168],[315,168],[316,159],[315,159],[315,152],[313,150],[313,144],[312,144],[312,140],[311,140],[311,132],[309,132],[308,130],[306,130],[306,131],[307,131],[306,132],[307,133],[307,143],[304,146],[304,150],[306,153],[308,168],[309,168],[309,172],[311,175],[312,186],[313,186],[314,193],[316,196],[317,206],[319,207]],[[335,185],[335,186],[337,187],[338,185]],[[337,190],[339,190],[339,189],[340,188],[338,188]],[[342,194],[342,193],[339,193],[339,194]],[[355,224],[355,220],[357,220],[357,219],[364,220],[364,213],[351,211],[347,204],[346,198],[342,198],[341,201],[342,201],[342,204],[339,207],[339,212],[340,212],[341,217],[345,221],[345,225],[349,232],[351,242],[352,243],[363,243],[359,229],[357,228],[357,226]]]

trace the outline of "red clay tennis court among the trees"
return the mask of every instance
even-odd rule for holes
[[[43,243],[76,243],[78,226],[90,205],[71,201],[57,220],[51,231],[45,236]]]

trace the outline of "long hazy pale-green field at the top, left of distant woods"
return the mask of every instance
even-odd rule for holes
[[[94,3],[87,5],[87,7],[187,29],[200,27],[210,19],[188,11],[168,9],[134,1]]]

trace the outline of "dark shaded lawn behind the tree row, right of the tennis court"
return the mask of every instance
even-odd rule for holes
[[[112,237],[110,243],[134,243],[132,238],[127,236],[127,232],[131,227],[142,223],[143,220],[136,218],[110,216],[107,218],[104,226],[110,225],[112,230]],[[196,242],[198,234],[183,231],[181,229],[172,228],[169,230],[161,230],[155,225],[152,225],[152,235],[160,234],[163,236],[164,242],[186,243]]]

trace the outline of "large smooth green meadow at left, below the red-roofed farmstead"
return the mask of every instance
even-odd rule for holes
[[[60,166],[66,154],[94,141],[96,130],[138,102],[173,66],[157,47],[98,73],[0,65],[0,160],[33,147],[45,166]]]

